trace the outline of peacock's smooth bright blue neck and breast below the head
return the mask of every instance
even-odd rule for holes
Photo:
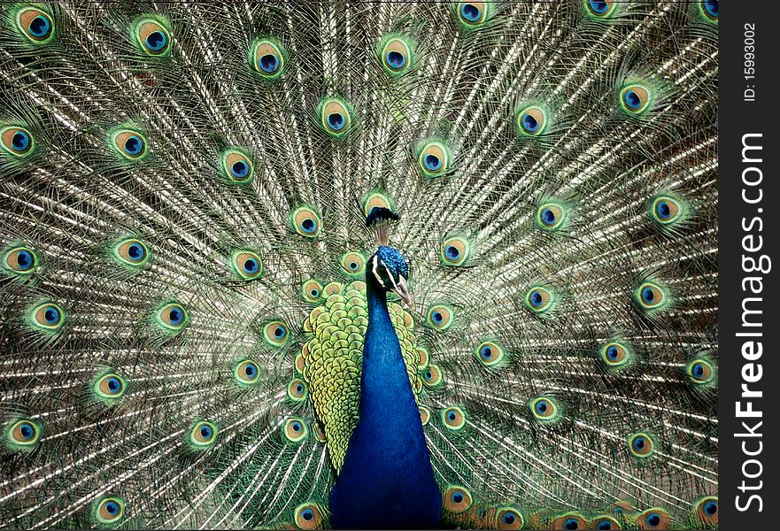
[[[334,528],[431,528],[442,499],[385,292],[366,279],[360,418],[330,493]]]

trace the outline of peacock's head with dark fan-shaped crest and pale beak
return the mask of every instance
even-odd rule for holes
[[[368,259],[366,282],[375,289],[392,291],[410,308],[414,307],[409,295],[409,264],[401,251],[388,246],[390,225],[398,221],[398,214],[388,208],[375,206],[368,212],[366,226],[375,232],[379,248]]]

